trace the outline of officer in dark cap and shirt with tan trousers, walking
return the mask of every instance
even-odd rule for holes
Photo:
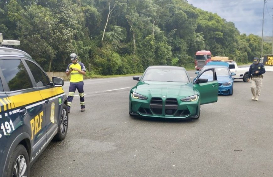
[[[251,92],[252,100],[258,101],[263,85],[263,75],[265,73],[265,67],[260,63],[261,59],[254,57],[253,63],[249,67],[248,76],[251,78]],[[247,79],[249,82],[250,79]]]

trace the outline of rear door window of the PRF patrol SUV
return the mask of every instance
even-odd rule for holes
[[[29,89],[33,87],[21,60],[0,60],[0,65],[10,91]]]

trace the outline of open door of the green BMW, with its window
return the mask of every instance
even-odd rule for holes
[[[203,75],[206,75],[206,77],[202,78]],[[218,81],[215,69],[208,68],[202,71],[202,73],[200,73],[193,81],[193,87],[200,92],[200,104],[217,102]]]

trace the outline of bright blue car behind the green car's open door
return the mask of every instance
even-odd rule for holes
[[[215,68],[216,74],[217,74],[217,81],[218,81],[218,94],[222,95],[232,95],[233,94],[233,76],[236,74],[233,72],[230,72],[228,68],[227,62],[222,61],[211,61],[208,62],[200,72],[196,71],[195,73],[198,74],[201,73],[203,70],[207,68]],[[198,77],[197,76],[197,77]],[[196,77],[196,78],[197,78]],[[208,81],[213,80],[211,75],[202,74],[200,78],[208,79]]]

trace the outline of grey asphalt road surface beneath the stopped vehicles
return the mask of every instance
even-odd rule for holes
[[[266,72],[256,102],[250,83],[237,80],[232,96],[179,121],[131,118],[132,77],[84,80],[86,111],[76,92],[66,139],[51,142],[31,176],[272,176],[272,81]]]

